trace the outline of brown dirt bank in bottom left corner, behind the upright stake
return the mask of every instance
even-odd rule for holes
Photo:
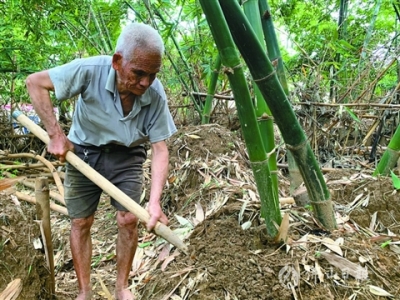
[[[41,243],[35,210],[25,203],[16,205],[6,193],[0,197],[0,294],[8,283],[20,278],[23,289],[19,299],[47,299],[50,273],[43,252],[33,246],[34,241]]]

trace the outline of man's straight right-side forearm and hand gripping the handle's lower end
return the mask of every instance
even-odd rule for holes
[[[161,194],[168,175],[168,148],[165,141],[151,144],[151,190],[148,204],[150,220],[147,230],[152,230],[157,221],[167,225],[168,218],[161,210]]]

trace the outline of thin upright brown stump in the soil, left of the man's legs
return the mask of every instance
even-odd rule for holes
[[[51,240],[49,184],[46,177],[36,178],[35,182],[36,211],[39,217],[40,231],[42,233],[47,266],[50,270],[50,291],[56,293],[54,278],[54,253]]]

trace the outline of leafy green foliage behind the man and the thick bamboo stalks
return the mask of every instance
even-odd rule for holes
[[[369,24],[377,1],[349,2],[342,38],[337,25],[340,1],[271,0],[269,5],[282,43],[292,101],[327,101],[332,66],[337,72],[338,98],[360,74],[368,73],[345,99],[353,101],[400,52],[394,11],[400,6],[398,1],[381,1],[373,28]],[[0,103],[28,102],[24,80],[32,72],[77,57],[112,54],[121,27],[131,21],[152,24],[160,31],[167,49],[160,77],[170,102],[187,106],[179,110],[181,117],[196,117],[202,102],[192,92],[207,91],[217,54],[196,0],[0,1]],[[368,32],[371,39],[365,48]],[[380,56],[376,56],[378,49]],[[367,101],[392,90],[397,74],[394,64]],[[217,92],[226,91],[229,85],[221,74]]]

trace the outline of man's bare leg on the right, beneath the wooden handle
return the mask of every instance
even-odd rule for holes
[[[117,282],[115,284],[116,300],[132,300],[133,295],[127,289],[129,272],[138,243],[137,217],[131,212],[118,211],[117,238]]]

